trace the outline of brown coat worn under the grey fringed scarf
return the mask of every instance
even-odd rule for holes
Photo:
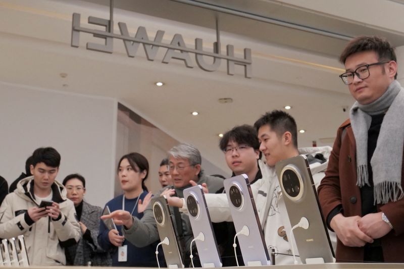
[[[341,141],[343,132],[345,134]],[[388,157],[386,156],[386,158]],[[401,166],[401,186],[404,186],[404,156]],[[342,205],[344,217],[361,216],[361,191],[357,186],[356,142],[349,120],[338,128],[328,168],[318,188],[318,193],[326,220],[328,214],[338,205]],[[404,199],[378,204],[377,211],[383,211],[394,228],[381,238],[384,261],[404,262],[404,255],[402,255]],[[364,248],[344,246],[338,239],[336,259],[341,262],[362,262]]]

